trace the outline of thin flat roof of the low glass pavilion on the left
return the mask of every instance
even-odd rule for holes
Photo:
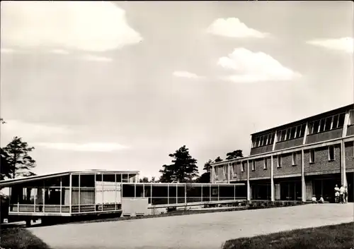
[[[58,176],[67,176],[69,174],[139,174],[140,171],[111,171],[111,170],[104,170],[104,169],[88,169],[83,171],[64,171],[59,173],[52,173],[52,174],[43,174],[38,176],[28,176],[28,177],[21,177],[21,178],[13,178],[7,179],[4,181],[0,181],[0,186],[10,186],[14,183],[26,183],[29,181],[38,181],[44,180],[47,178],[53,178]]]

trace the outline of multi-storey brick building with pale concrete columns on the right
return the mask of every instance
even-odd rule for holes
[[[247,200],[353,201],[354,104],[251,134],[248,157],[212,164],[212,183],[246,183]]]

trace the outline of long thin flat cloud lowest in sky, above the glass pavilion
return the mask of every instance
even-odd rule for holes
[[[74,142],[38,142],[35,143],[35,145],[53,150],[71,150],[81,152],[113,152],[127,149],[126,146],[113,142],[89,142],[83,144]]]

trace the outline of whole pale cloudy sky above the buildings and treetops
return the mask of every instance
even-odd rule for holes
[[[353,103],[352,1],[1,1],[1,147],[159,176]]]

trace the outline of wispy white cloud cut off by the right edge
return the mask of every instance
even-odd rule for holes
[[[326,49],[340,50],[347,53],[354,51],[354,39],[352,37],[342,37],[338,39],[318,39],[306,42],[314,46],[324,47]]]

